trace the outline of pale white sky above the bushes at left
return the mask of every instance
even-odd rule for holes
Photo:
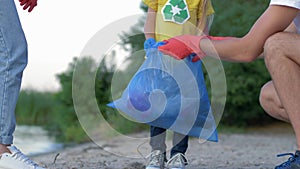
[[[93,35],[112,22],[142,14],[140,2],[38,0],[38,6],[28,13],[15,0],[29,52],[22,89],[57,90],[55,76],[67,70]]]

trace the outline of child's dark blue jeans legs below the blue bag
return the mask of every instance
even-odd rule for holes
[[[166,129],[150,126],[150,146],[152,150],[160,150],[166,152]],[[182,135],[180,133],[174,132],[173,134],[173,147],[171,149],[171,157],[177,153],[185,154],[188,148],[189,136]]]

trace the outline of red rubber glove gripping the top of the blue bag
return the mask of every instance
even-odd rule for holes
[[[176,36],[169,40],[164,41],[166,44],[159,46],[158,49],[175,59],[181,60],[191,54],[194,54],[193,62],[197,62],[206,56],[206,54],[200,48],[200,41],[202,39],[210,40],[226,40],[232,37],[213,37],[213,36],[195,36],[195,35],[182,35]]]

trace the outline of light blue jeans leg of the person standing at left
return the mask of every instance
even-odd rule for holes
[[[0,0],[0,143],[12,144],[27,42],[14,0]]]

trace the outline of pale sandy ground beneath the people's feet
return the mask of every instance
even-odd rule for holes
[[[143,169],[143,156],[150,152],[147,136],[148,133],[118,136],[33,159],[49,169]],[[168,140],[170,147],[171,140]],[[287,124],[243,133],[219,133],[218,143],[190,139],[187,169],[271,169],[288,158],[277,158],[277,154],[294,152],[295,148],[295,137]]]

